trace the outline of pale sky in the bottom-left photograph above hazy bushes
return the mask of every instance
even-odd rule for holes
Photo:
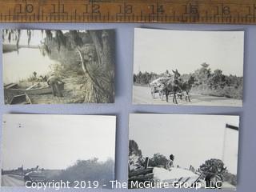
[[[77,160],[114,160],[115,116],[5,114],[2,169],[65,169]]]

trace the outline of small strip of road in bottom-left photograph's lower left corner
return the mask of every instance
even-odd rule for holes
[[[3,174],[2,186],[25,186],[25,182],[22,176]]]

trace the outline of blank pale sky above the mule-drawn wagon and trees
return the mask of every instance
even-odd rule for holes
[[[134,74],[176,70],[189,74],[202,63],[242,76],[244,31],[134,30]]]

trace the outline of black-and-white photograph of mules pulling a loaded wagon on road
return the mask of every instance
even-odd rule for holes
[[[244,31],[134,30],[134,104],[242,106]]]

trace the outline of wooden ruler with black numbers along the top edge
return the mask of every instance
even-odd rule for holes
[[[256,24],[256,0],[0,0],[0,22]]]

